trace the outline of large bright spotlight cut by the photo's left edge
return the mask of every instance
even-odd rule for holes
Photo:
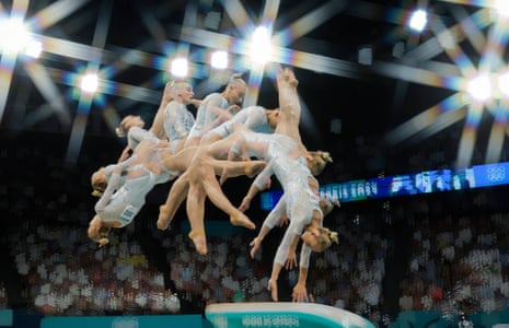
[[[5,54],[18,54],[28,42],[28,33],[21,19],[9,19],[0,22],[0,50]]]

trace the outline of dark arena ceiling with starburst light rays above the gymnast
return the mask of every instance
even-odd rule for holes
[[[250,33],[269,23],[279,54],[275,61],[293,67],[300,80],[304,142],[340,159],[339,171],[405,171],[417,150],[431,159],[423,168],[506,161],[507,99],[475,102],[465,86],[478,73],[493,77],[507,69],[508,22],[494,14],[495,4],[3,0],[2,19],[22,17],[43,52],[38,59],[1,52],[0,128],[62,133],[69,140],[67,161],[73,162],[83,139],[115,138],[123,116],[153,118],[175,56],[190,60],[197,97],[222,90],[230,73],[243,72],[246,105],[276,107],[274,67],[254,70],[246,60]],[[430,12],[420,35],[406,27],[416,5]],[[215,49],[230,54],[225,71],[210,68]],[[94,97],[77,87],[86,70],[101,78],[102,92]]]

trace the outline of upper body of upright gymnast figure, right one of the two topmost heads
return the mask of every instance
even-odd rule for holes
[[[198,145],[205,133],[232,118],[239,112],[239,104],[242,103],[246,90],[247,86],[241,74],[232,74],[222,93],[211,93],[206,96],[196,112],[195,124],[184,147]]]

